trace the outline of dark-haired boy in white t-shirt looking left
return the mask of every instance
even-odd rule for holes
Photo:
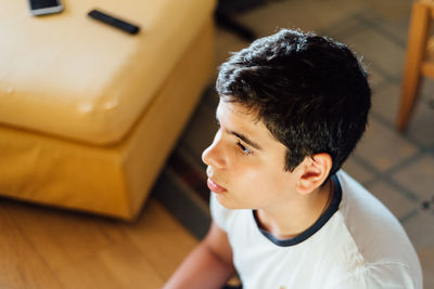
[[[371,92],[354,54],[282,29],[221,65],[219,130],[203,153],[213,223],[165,288],[422,288],[393,214],[342,163]]]

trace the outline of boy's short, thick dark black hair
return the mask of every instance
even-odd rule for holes
[[[288,147],[285,170],[327,153],[334,174],[366,130],[367,73],[342,43],[282,29],[254,41],[219,67],[217,92],[264,121]]]

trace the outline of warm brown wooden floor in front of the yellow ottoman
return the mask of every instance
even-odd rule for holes
[[[155,200],[133,223],[0,198],[0,288],[161,288],[196,240]]]

